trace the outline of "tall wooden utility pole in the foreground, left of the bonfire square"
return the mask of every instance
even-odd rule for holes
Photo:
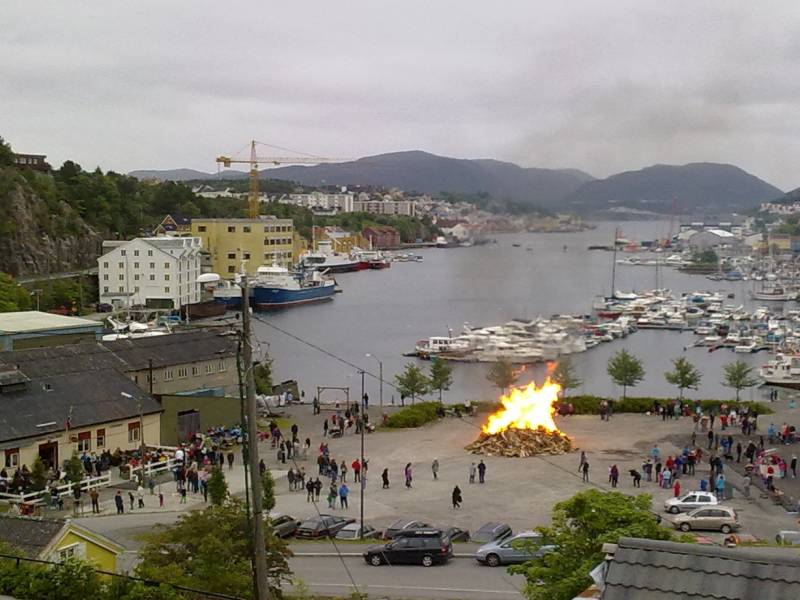
[[[258,425],[256,424],[256,382],[253,376],[253,347],[250,343],[250,299],[247,274],[242,275],[242,358],[247,392],[247,449],[250,459],[250,495],[253,499],[253,549],[257,600],[271,600],[267,581],[267,550],[264,547],[264,517],[261,500],[261,471],[258,468]]]

